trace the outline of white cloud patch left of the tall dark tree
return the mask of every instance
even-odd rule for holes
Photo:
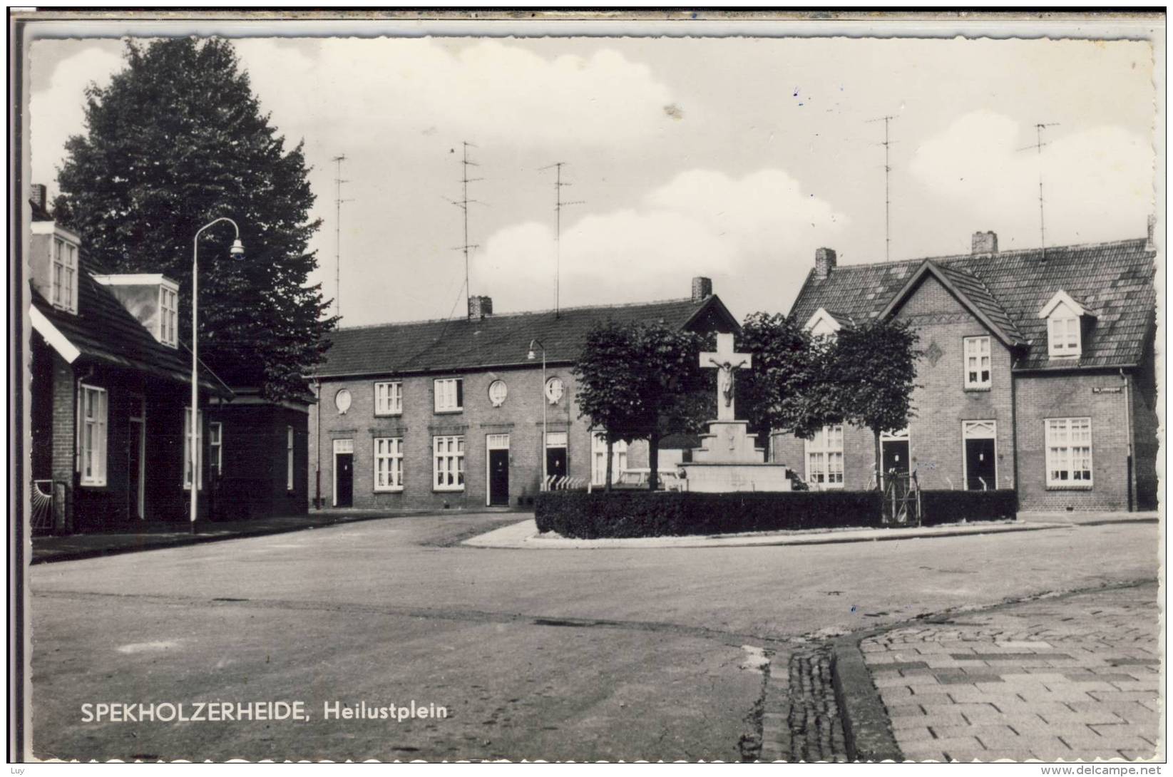
[[[34,68],[38,54],[42,62],[48,54],[42,46],[33,47]],[[48,88],[29,96],[33,183],[54,184],[66,141],[86,128],[86,86],[90,82],[104,86],[121,68],[121,56],[102,48],[84,48],[57,62]]]

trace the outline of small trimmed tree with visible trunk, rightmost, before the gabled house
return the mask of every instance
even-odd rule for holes
[[[915,345],[916,333],[908,323],[879,319],[843,327],[835,339],[830,357],[834,403],[846,423],[872,430],[877,476],[881,432],[903,429],[913,415]]]

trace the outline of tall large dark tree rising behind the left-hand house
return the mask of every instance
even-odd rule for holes
[[[69,138],[57,173],[60,218],[103,271],[177,280],[189,342],[192,239],[233,218],[244,259],[229,257],[230,225],[201,241],[201,357],[232,386],[304,394],[337,320],[323,318],[320,286],[307,285],[320,221],[308,216],[301,143],[285,150],[226,41],[130,41],[126,62],[108,87],[87,89],[87,131]]]

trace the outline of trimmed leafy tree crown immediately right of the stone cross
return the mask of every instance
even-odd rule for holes
[[[738,340],[739,350],[753,354],[752,368],[738,376],[738,407],[758,439],[773,430],[809,439],[839,422],[826,338],[781,314],[751,313]]]

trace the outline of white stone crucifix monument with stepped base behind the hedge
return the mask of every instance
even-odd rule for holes
[[[717,420],[708,422],[708,434],[700,435],[701,447],[693,449],[692,461],[680,465],[690,491],[791,490],[786,465],[768,463],[757,435],[748,434],[750,422],[737,420],[737,370],[752,366],[753,355],[737,353],[727,332],[717,334],[716,352],[700,354],[700,367],[717,370]]]

